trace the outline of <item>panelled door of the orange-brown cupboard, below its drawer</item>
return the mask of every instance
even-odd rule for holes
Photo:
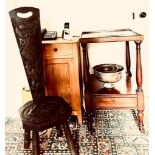
[[[71,77],[74,74],[72,64],[72,59],[48,59],[44,63],[46,95],[61,96],[69,102],[70,105]]]

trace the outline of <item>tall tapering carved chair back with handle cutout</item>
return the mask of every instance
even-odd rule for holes
[[[24,15],[29,17],[23,18]],[[26,76],[35,104],[44,96],[39,9],[21,7],[10,11],[10,17]]]

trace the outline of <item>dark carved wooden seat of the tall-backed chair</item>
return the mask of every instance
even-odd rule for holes
[[[72,109],[62,97],[45,96],[37,104],[27,102],[19,112],[24,129],[41,131],[65,122]]]

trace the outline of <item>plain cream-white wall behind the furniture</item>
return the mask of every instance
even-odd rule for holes
[[[6,1],[6,115],[18,115],[17,109],[22,104],[22,88],[27,85],[19,50],[11,26],[8,11],[21,6],[33,6],[40,9],[42,28],[58,31],[61,36],[64,22],[70,22],[73,35],[82,31],[131,28],[145,34],[142,45],[144,65],[144,86],[148,92],[148,37],[146,18],[140,19],[141,11],[148,10],[147,0],[7,0]],[[132,20],[132,12],[136,19]],[[124,65],[124,43],[90,45],[92,66],[103,62]],[[135,65],[135,45],[131,47],[132,70]],[[96,54],[98,53],[98,54]],[[100,53],[100,54],[99,54]]]

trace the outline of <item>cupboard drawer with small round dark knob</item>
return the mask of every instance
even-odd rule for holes
[[[73,44],[44,44],[44,59],[73,57]]]

